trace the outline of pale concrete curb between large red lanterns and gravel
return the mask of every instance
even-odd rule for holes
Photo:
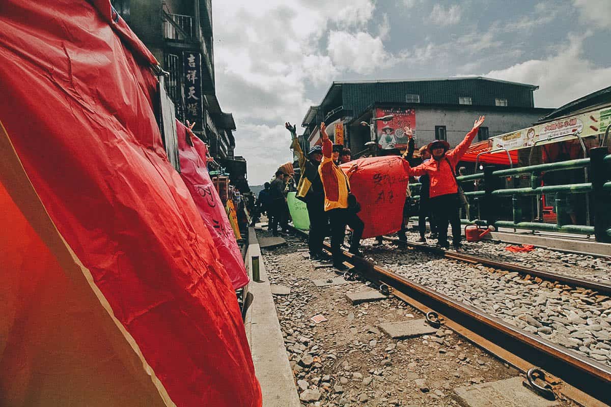
[[[276,305],[271,294],[265,263],[254,228],[248,228],[246,270],[251,277],[248,291],[254,296],[246,312],[244,326],[251,345],[255,374],[261,384],[264,407],[299,407],[299,395],[295,387],[293,370],[288,364]],[[259,258],[260,282],[252,281],[252,258]]]

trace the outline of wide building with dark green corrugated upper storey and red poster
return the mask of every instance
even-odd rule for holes
[[[483,141],[529,126],[551,112],[534,106],[537,88],[485,77],[333,82],[321,104],[306,113],[301,142],[305,148],[318,142],[324,121],[331,137],[335,131],[343,132],[343,144],[354,156],[366,153],[366,143],[372,141],[381,149],[404,149],[404,126],[412,129],[417,145],[436,139],[456,145],[474,119],[486,115],[478,134]],[[392,120],[374,120],[387,115],[393,115]]]

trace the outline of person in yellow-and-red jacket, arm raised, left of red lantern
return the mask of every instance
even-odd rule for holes
[[[353,229],[350,242],[350,253],[360,255],[360,237],[363,235],[364,223],[357,216],[359,211],[358,203],[350,193],[350,177],[358,170],[356,164],[344,174],[342,169],[333,161],[333,144],[329,140],[326,126],[320,123],[320,134],[323,139],[323,161],[318,167],[320,179],[323,181],[324,189],[324,211],[329,215],[331,223],[331,255],[333,265],[340,272],[344,272],[347,267],[342,262],[342,243],[346,232],[346,225]],[[350,201],[350,205],[348,205]]]

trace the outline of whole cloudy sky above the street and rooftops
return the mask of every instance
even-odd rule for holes
[[[332,81],[481,75],[558,107],[611,85],[610,0],[213,0],[216,92],[251,185]]]

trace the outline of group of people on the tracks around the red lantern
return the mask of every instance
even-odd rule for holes
[[[437,245],[448,249],[448,225],[452,229],[452,245],[455,250],[461,249],[461,210],[469,211],[461,193],[461,185],[456,179],[456,165],[466,153],[470,144],[477,136],[478,128],[483,124],[484,116],[475,120],[473,128],[455,148],[445,140],[434,140],[419,148],[419,159],[414,159],[415,143],[411,129],[405,128],[408,135],[408,149],[402,158],[406,165],[408,176],[414,177],[420,187],[418,204],[418,231],[420,242],[426,242],[426,220],[430,224],[431,239],[437,240]],[[346,226],[351,229],[349,253],[360,255],[360,239],[364,223],[359,218],[360,204],[350,192],[350,178],[359,171],[354,162],[347,171],[340,165],[351,162],[351,151],[343,145],[333,144],[326,131],[325,123],[320,124],[321,145],[315,145],[304,154],[296,140],[296,128],[290,123],[285,124],[293,136],[293,149],[299,157],[299,182],[295,184],[292,175],[283,170],[276,171],[274,179],[265,183],[258,196],[260,212],[266,213],[269,220],[269,231],[274,236],[288,233],[290,215],[287,206],[286,192],[295,190],[296,197],[305,202],[310,218],[308,247],[310,259],[331,260],[338,272],[346,270],[342,261],[342,243],[346,235]],[[397,151],[382,151],[381,155],[397,154]],[[464,167],[459,168],[459,175]],[[409,196],[409,187],[406,191]],[[406,200],[406,214],[410,200]],[[407,219],[408,217],[404,217]],[[406,239],[406,221],[398,232],[400,240]],[[279,228],[280,227],[280,231]],[[331,258],[323,251],[326,237],[331,238]]]

